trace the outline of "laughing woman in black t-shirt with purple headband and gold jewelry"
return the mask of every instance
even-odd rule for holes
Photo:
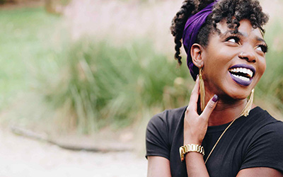
[[[149,177],[283,176],[283,122],[253,105],[267,21],[256,0],[184,1],[171,26],[175,59],[182,41],[196,84],[188,106],[149,121]]]

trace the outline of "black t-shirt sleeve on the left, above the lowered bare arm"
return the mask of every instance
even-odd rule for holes
[[[146,158],[147,156],[170,158],[168,125],[165,112],[154,115],[146,127]]]

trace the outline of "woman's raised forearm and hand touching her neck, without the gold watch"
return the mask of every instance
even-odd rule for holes
[[[207,132],[208,119],[214,110],[218,97],[210,99],[201,115],[197,113],[197,100],[200,95],[200,79],[197,78],[194,89],[190,96],[190,103],[187,106],[184,119],[184,145],[202,144],[204,135]],[[209,176],[207,167],[204,164],[202,154],[198,152],[188,152],[185,154],[185,163],[187,167],[187,176],[204,177]]]

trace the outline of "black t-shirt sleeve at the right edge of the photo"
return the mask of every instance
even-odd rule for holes
[[[283,172],[283,122],[272,122],[255,133],[241,169],[269,167]]]

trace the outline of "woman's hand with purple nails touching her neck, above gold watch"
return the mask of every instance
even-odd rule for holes
[[[190,103],[187,106],[184,119],[184,145],[202,144],[204,135],[207,132],[208,120],[218,101],[218,96],[214,95],[201,115],[197,113],[197,100],[200,95],[200,79],[197,77],[194,89],[190,96]]]

